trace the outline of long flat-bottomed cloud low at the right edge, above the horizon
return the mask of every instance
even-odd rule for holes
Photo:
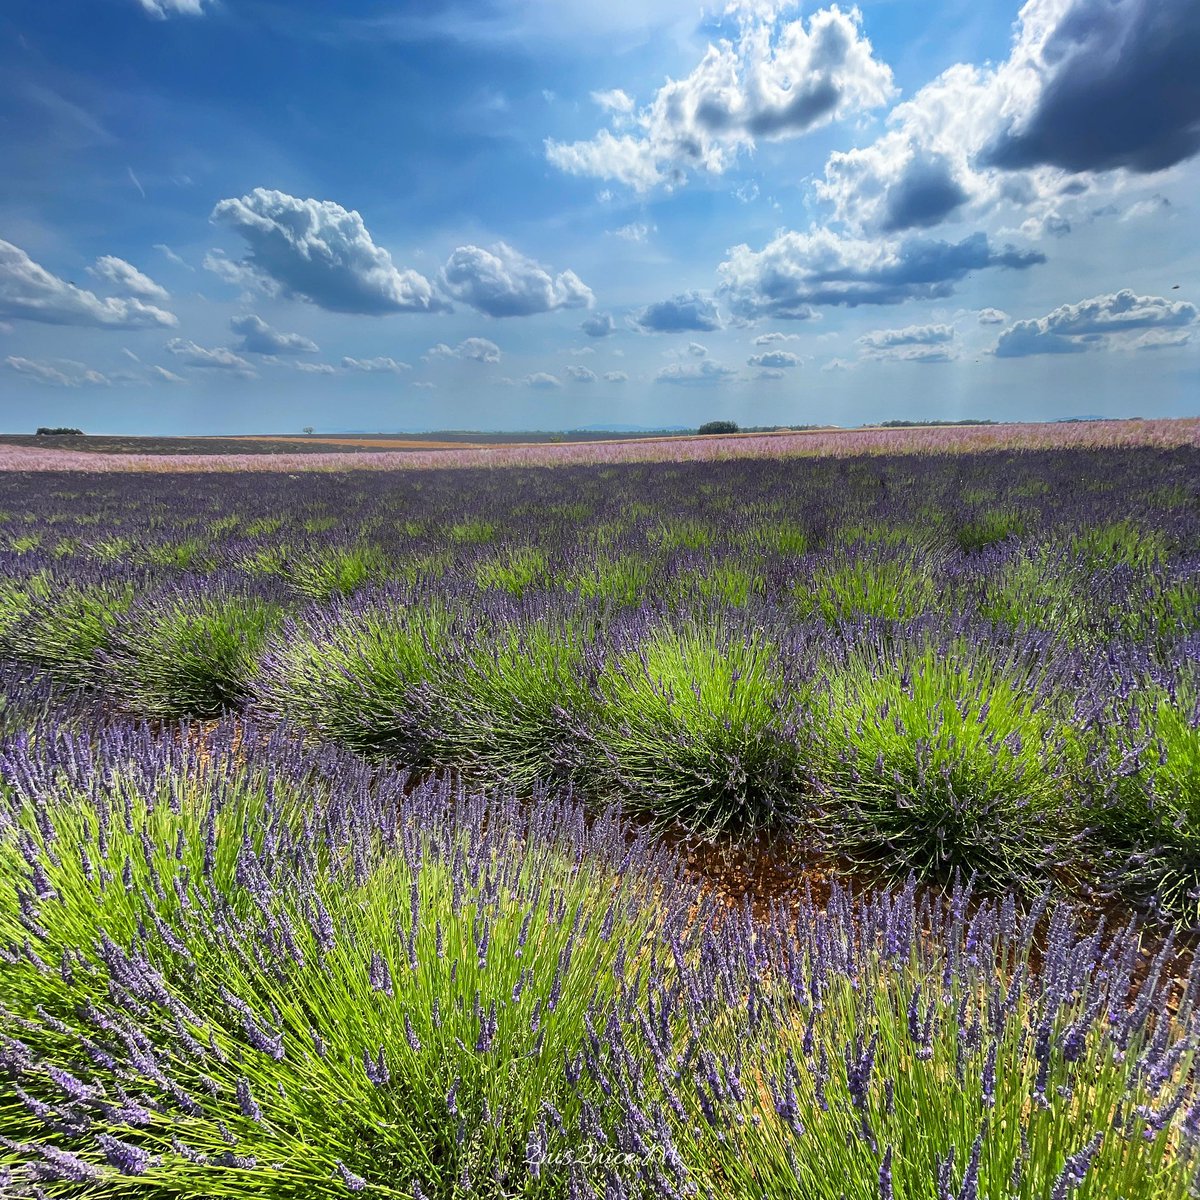
[[[1180,344],[1177,331],[1196,324],[1198,319],[1200,311],[1184,300],[1139,296],[1124,288],[1111,295],[1064,304],[1045,317],[1019,320],[1000,335],[992,353],[1000,359],[1015,359],[1032,354],[1082,354],[1092,349]],[[1127,334],[1141,336],[1133,340],[1122,336]],[[1150,337],[1151,334],[1154,336]]]

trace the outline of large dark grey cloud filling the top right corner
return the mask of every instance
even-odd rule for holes
[[[1200,4],[1074,0],[1042,47],[1032,110],[988,166],[1154,172],[1200,151]]]

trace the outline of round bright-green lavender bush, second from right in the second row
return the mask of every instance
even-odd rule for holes
[[[1044,691],[1028,667],[967,643],[830,665],[810,702],[834,840],[896,876],[1036,880],[1078,823],[1073,750]]]

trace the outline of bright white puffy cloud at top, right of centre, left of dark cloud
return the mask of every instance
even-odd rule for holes
[[[778,8],[743,8],[739,16],[736,38],[709,46],[690,74],[667,80],[636,115],[631,103],[606,106],[617,124],[631,124],[636,132],[600,130],[574,143],[548,139],[550,162],[638,191],[677,185],[690,170],[721,174],[758,139],[799,137],[893,95],[892,72],[862,36],[857,8],[842,12],[833,5],[812,13],[808,24],[785,20]]]

